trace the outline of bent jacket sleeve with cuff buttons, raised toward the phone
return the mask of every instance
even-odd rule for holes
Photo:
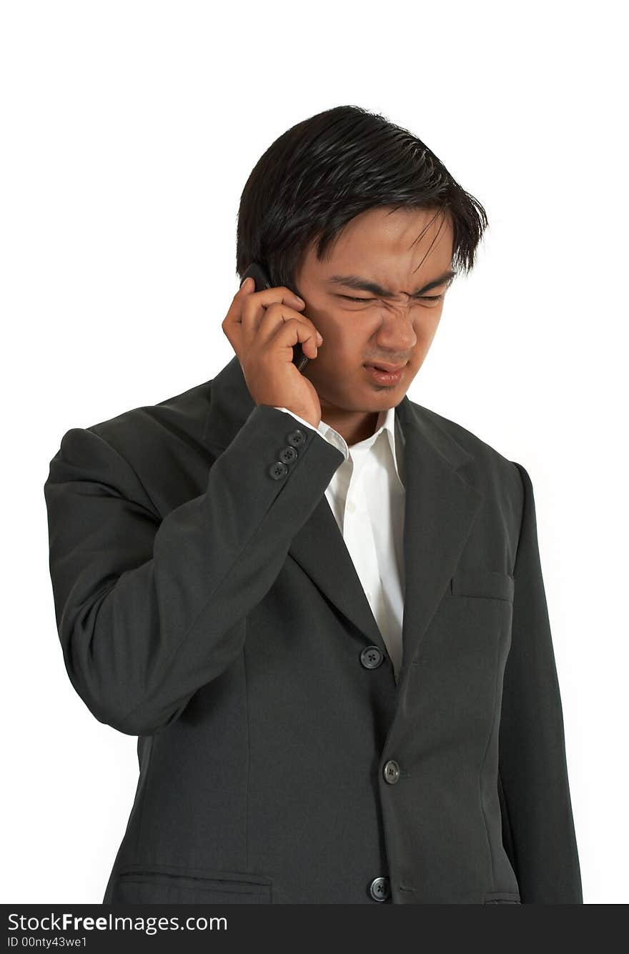
[[[100,428],[63,436],[44,485],[57,630],[93,715],[153,735],[241,653],[239,624],[344,457],[304,429],[297,457],[279,462],[295,422],[258,405],[204,492],[160,519]]]

